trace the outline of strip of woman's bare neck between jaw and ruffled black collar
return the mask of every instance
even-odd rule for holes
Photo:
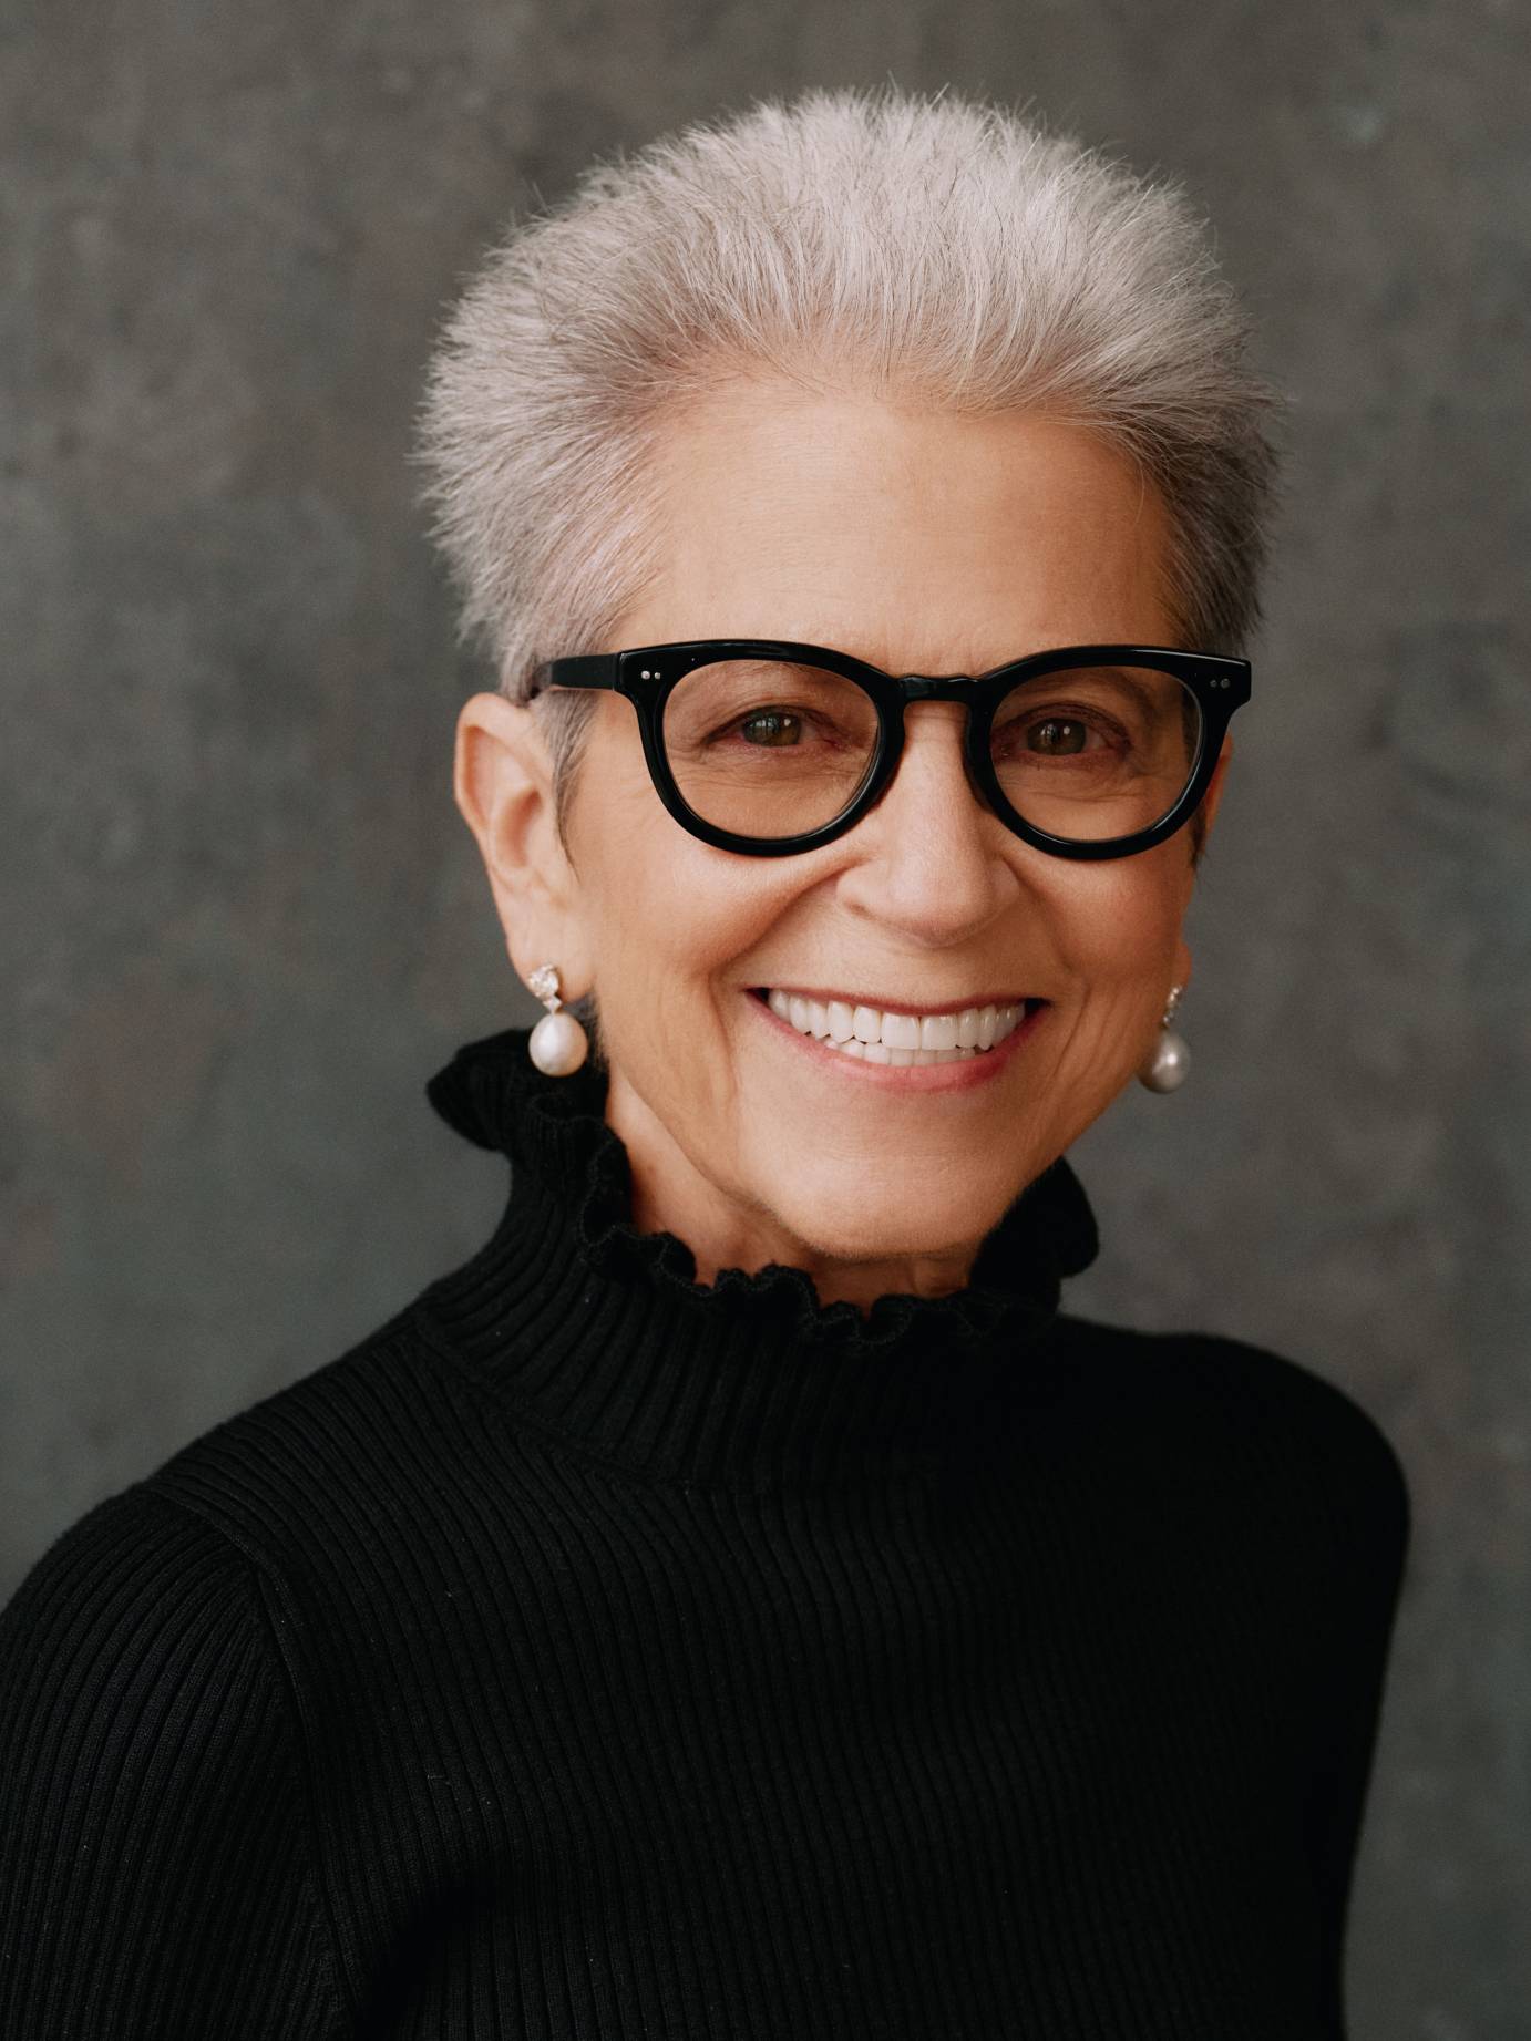
[[[825,1304],[870,1310],[894,1290],[904,1296],[951,1296],[972,1276],[978,1241],[866,1259],[827,1253],[768,1206],[747,1204],[704,1176],[616,1069],[606,1092],[606,1125],[621,1137],[633,1172],[633,1223],[641,1233],[676,1233],[686,1241],[702,1284],[717,1282],[725,1267],[753,1276],[780,1263],[806,1270]]]

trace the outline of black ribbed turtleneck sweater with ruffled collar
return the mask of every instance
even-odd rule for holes
[[[1409,1498],[1341,1390],[631,1225],[604,1080],[431,1082],[494,1237],[0,1619],[8,2041],[1335,2041]]]

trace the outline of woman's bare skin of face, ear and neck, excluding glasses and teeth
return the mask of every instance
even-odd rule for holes
[[[1051,645],[1176,643],[1164,508],[1076,425],[739,382],[674,422],[653,480],[659,571],[608,651],[776,637],[894,674],[980,674]],[[455,798],[510,961],[525,980],[553,959],[565,998],[594,990],[635,1221],[678,1233],[700,1282],[788,1261],[827,1302],[959,1288],[1010,1200],[1151,1053],[1170,986],[1190,982],[1188,831],[1098,863],[1031,849],[968,786],[961,716],[912,704],[878,806],[819,851],[763,859],[672,820],[612,694],[565,849],[535,710],[463,704]],[[1225,743],[1208,827],[1227,757]],[[866,1082],[776,1023],[757,986],[1049,1006],[984,1084],[953,1088],[945,1067]]]

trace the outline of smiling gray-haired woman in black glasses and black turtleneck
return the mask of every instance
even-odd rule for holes
[[[1180,200],[953,98],[592,173],[425,418],[549,1016],[492,1239],[4,1619],[4,2033],[1319,2041],[1406,1539],[1059,1312],[1186,1074],[1270,455]]]

